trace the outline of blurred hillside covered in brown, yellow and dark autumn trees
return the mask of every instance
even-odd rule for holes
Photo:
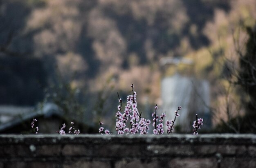
[[[108,99],[133,83],[141,103],[161,104],[160,80],[174,70],[159,60],[171,56],[195,61],[192,75],[211,82],[221,113],[225,59],[238,60],[233,37],[245,44],[240,28],[253,27],[255,18],[255,0],[3,0],[0,103],[35,105],[46,88],[67,83],[70,95],[83,96],[81,112],[110,112]]]

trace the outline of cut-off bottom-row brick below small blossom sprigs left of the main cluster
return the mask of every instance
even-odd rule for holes
[[[108,161],[72,161],[66,162],[63,168],[111,168]]]

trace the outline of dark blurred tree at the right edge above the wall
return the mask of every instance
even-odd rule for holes
[[[236,79],[235,82],[230,81],[230,86],[237,87],[236,92],[240,96],[245,113],[230,115],[228,121],[222,120],[216,127],[217,132],[256,133],[256,26],[254,29],[246,27],[246,30],[249,36],[245,44],[246,51],[243,52],[241,47],[236,48],[240,67],[236,68],[234,64],[234,67],[224,65],[229,71],[229,76]],[[228,104],[227,114],[231,114]]]

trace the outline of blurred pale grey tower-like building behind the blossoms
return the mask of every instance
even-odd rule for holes
[[[192,60],[165,59],[161,64],[177,66],[180,63],[192,65]],[[182,106],[179,111],[180,117],[176,119],[175,132],[191,132],[195,114],[204,119],[202,129],[211,128],[210,85],[206,80],[199,80],[193,75],[182,76],[175,72],[173,76],[162,78],[162,112],[166,113],[166,120],[174,119],[175,110]]]

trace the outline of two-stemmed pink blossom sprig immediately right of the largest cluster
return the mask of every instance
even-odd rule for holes
[[[162,113],[162,115],[160,116],[160,119],[157,115],[157,105],[155,105],[155,112],[152,113],[152,116],[154,116],[153,118],[153,127],[155,126],[155,129],[153,130],[153,134],[164,134],[164,125],[163,125],[163,121],[164,121],[164,117],[166,116],[164,113]],[[159,119],[159,124],[157,124]]]

